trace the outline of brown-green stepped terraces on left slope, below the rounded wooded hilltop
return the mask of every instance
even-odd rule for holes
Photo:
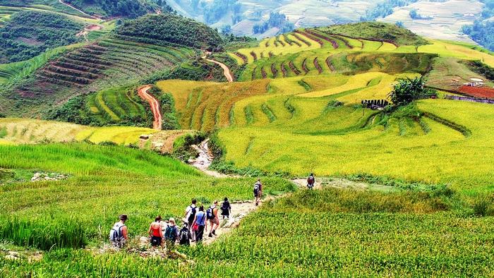
[[[44,104],[47,104],[49,99],[60,101],[81,93],[137,83],[160,69],[181,64],[193,55],[195,53],[190,49],[104,38],[52,59],[35,71],[35,78],[17,85],[8,93],[28,99],[44,99]],[[25,110],[28,116],[40,113],[28,107]],[[110,114],[109,118],[116,119],[104,107],[95,110],[95,114],[105,116],[105,113]]]

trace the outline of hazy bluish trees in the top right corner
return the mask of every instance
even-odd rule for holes
[[[478,44],[494,51],[494,22],[490,20],[494,17],[494,0],[481,2],[485,4],[481,18],[475,20],[473,25],[464,25],[462,31]]]

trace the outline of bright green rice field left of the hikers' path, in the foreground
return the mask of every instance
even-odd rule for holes
[[[231,200],[251,198],[252,179],[215,181],[174,159],[142,150],[87,144],[0,148],[4,154],[1,167],[56,170],[74,176],[67,181],[46,183],[42,200],[29,193],[39,191],[37,186],[23,183],[0,192],[2,200],[9,200],[1,204],[0,236],[19,246],[49,250],[53,246],[78,248],[92,240],[101,241],[107,233],[102,234],[97,227],[111,226],[114,215],[122,212],[133,218],[129,227],[133,237],[147,229],[151,215],[180,219],[193,197],[208,202],[224,195]],[[174,186],[157,187],[165,184]],[[291,183],[280,179],[268,179],[265,184],[267,191],[294,189]],[[27,198],[14,201],[20,191]],[[152,197],[156,195],[162,197],[156,200]],[[32,219],[40,212],[44,217]],[[46,226],[50,228],[43,229]],[[72,236],[75,234],[78,236]]]

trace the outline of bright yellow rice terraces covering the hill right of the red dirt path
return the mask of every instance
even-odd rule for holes
[[[465,191],[488,191],[478,185],[490,184],[489,167],[476,168],[476,177],[467,179],[466,173],[479,163],[478,155],[454,150],[481,142],[483,135],[490,134],[489,128],[475,127],[475,117],[457,121],[459,117],[443,111],[460,114],[474,110],[477,116],[488,117],[492,107],[423,101],[413,111],[390,118],[358,104],[364,99],[386,99],[396,80],[404,77],[427,75],[430,86],[451,90],[448,78],[476,76],[466,62],[480,60],[493,65],[493,56],[466,44],[426,42],[413,36],[385,40],[366,37],[365,32],[362,37],[353,32],[344,35],[342,30],[331,32],[301,29],[265,39],[258,47],[231,52],[232,58],[245,65],[241,82],[163,80],[157,85],[174,96],[183,128],[219,129],[226,159],[237,167],[296,175],[363,171],[452,183]],[[395,156],[401,158],[392,167],[387,161]],[[416,157],[423,159],[418,164],[408,163]],[[454,161],[462,161],[469,170],[455,166]],[[440,171],[431,164],[436,162],[444,165]]]

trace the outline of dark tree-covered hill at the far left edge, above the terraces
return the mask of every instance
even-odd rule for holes
[[[0,29],[0,63],[25,61],[47,49],[73,44],[84,26],[66,16],[20,11]]]

